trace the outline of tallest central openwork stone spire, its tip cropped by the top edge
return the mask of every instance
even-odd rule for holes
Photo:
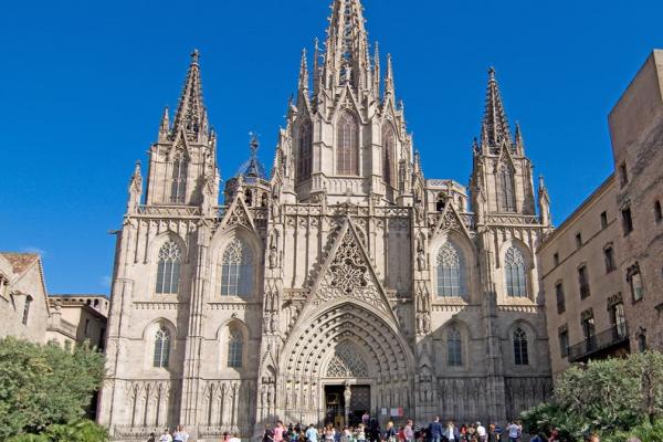
[[[346,83],[355,88],[369,86],[370,61],[364,23],[359,0],[334,0],[324,67],[327,87]]]

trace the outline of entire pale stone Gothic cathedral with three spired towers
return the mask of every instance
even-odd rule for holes
[[[334,0],[297,90],[271,171],[253,139],[220,204],[222,137],[191,54],[117,232],[98,403],[113,440],[177,424],[252,438],[366,411],[504,424],[546,400],[535,256],[550,202],[494,70],[467,186],[424,176],[359,0]]]

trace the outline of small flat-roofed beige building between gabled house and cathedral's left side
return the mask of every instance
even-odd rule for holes
[[[90,343],[105,349],[109,301],[104,295],[51,295],[48,340],[70,347]]]

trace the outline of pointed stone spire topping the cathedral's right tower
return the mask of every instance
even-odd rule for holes
[[[488,70],[488,87],[486,91],[486,108],[481,127],[481,145],[483,148],[497,149],[503,143],[512,145],[512,135],[502,104],[499,87],[495,80],[495,70]]]

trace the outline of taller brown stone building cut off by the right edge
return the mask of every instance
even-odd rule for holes
[[[663,349],[663,51],[654,51],[609,116],[631,348]],[[630,219],[630,220],[629,220]],[[629,225],[630,224],[630,225]],[[631,319],[632,318],[632,319]]]

